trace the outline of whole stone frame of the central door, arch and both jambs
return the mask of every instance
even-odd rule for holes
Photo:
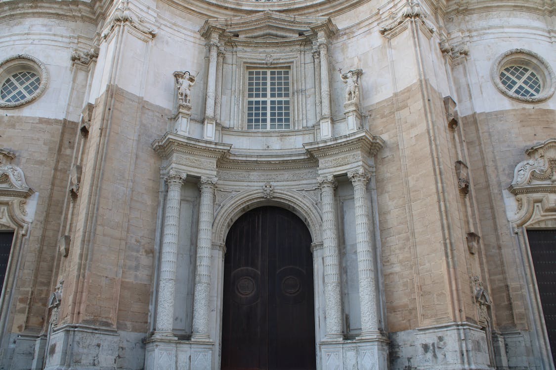
[[[212,266],[217,266],[216,281],[216,306],[217,314],[214,317],[216,322],[216,348],[221,346],[222,338],[222,310],[224,303],[224,256],[226,253],[225,241],[228,231],[234,225],[234,222],[245,212],[261,206],[277,206],[291,211],[297,215],[307,226],[311,234],[312,244],[311,251],[313,252],[313,273],[314,273],[314,300],[315,300],[315,341],[317,348],[321,338],[320,327],[324,322],[323,315],[324,305],[319,302],[324,302],[324,287],[321,286],[324,281],[322,275],[322,268],[319,267],[319,258],[315,255],[317,250],[322,247],[322,217],[317,202],[306,195],[302,195],[296,190],[280,190],[275,189],[272,196],[268,197],[261,190],[244,190],[229,197],[216,211],[214,224],[212,226],[212,242],[213,249],[219,250],[220,258],[212,260]],[[214,256],[214,255],[213,255]],[[214,257],[213,257],[214,258]],[[220,351],[217,358],[216,366],[220,368]],[[317,368],[319,366],[320,353],[317,351],[315,354]]]

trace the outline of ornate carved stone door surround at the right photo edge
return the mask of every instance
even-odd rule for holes
[[[535,229],[556,230],[556,138],[534,145],[525,153],[531,159],[515,167],[514,179],[508,188],[517,201],[515,217],[510,222],[518,236],[540,358],[544,369],[553,369],[554,361],[550,354],[527,232]]]

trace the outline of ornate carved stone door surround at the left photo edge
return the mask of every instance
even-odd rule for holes
[[[6,338],[4,331],[12,301],[19,256],[31,226],[37,197],[37,194],[27,186],[23,171],[11,164],[14,158],[16,155],[11,151],[0,149],[0,224],[6,229],[13,230],[14,235],[6,278],[0,295],[0,338]]]

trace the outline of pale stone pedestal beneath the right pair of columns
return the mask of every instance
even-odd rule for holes
[[[388,339],[321,342],[322,370],[388,370]]]

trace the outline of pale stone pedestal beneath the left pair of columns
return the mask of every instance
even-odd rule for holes
[[[214,344],[193,341],[147,339],[145,370],[207,370],[216,369],[211,363]]]

